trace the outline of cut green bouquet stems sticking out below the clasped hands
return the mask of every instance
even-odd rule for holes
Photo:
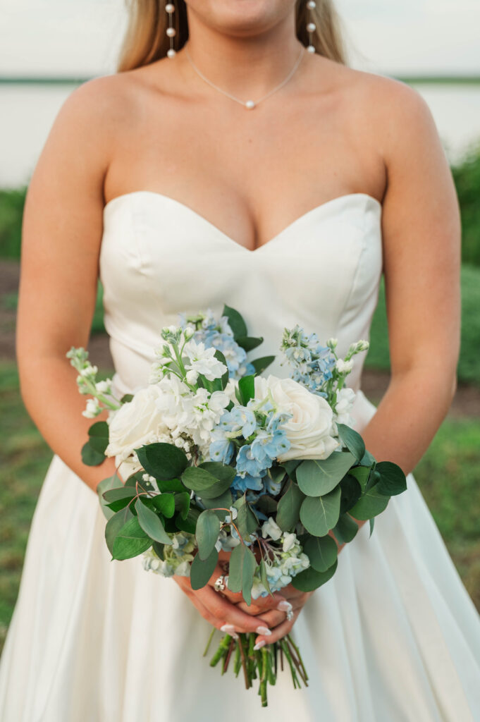
[[[204,656],[209,650],[211,639],[213,638],[215,629],[211,631],[208,643],[206,645]],[[268,685],[276,683],[276,675],[278,668],[283,671],[284,657],[292,674],[292,682],[295,689],[300,688],[301,682],[308,686],[308,675],[303,664],[302,656],[298,646],[294,643],[291,635],[287,635],[278,642],[266,645],[261,650],[255,650],[256,634],[250,632],[248,634],[240,633],[235,639],[232,635],[224,635],[220,640],[217,651],[210,660],[210,666],[214,667],[222,661],[222,674],[227,671],[230,658],[233,656],[233,671],[235,677],[240,673],[240,667],[243,669],[245,678],[245,689],[253,687],[253,679],[258,679],[258,695],[261,698],[262,707],[268,705],[267,688]],[[278,656],[280,655],[280,665],[278,665]],[[301,682],[300,682],[301,680]]]

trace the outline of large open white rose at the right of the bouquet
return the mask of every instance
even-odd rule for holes
[[[331,436],[333,411],[323,396],[311,393],[292,378],[256,376],[256,399],[264,399],[269,393],[279,412],[292,414],[283,425],[290,448],[278,457],[279,461],[327,458],[339,446]]]

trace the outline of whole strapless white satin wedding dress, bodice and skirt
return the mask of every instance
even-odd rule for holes
[[[368,338],[381,213],[351,193],[248,251],[160,193],[110,201],[100,274],[119,391],[147,383],[160,329],[183,310],[237,308],[264,336],[255,356],[277,353],[295,323],[336,336],[340,352]],[[349,378],[361,431],[375,406],[360,366]],[[1,658],[2,722],[479,722],[480,616],[411,474],[294,625],[310,686],[294,690],[284,671],[266,709],[202,658],[211,627],[180,588],[139,557],[110,561],[104,529],[95,492],[54,456]]]

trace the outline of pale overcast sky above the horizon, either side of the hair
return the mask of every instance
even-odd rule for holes
[[[354,66],[480,73],[480,0],[336,0]],[[0,0],[0,74],[115,69],[123,0]]]

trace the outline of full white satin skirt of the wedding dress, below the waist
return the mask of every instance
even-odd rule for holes
[[[362,426],[375,406],[360,392],[355,410]],[[480,616],[407,484],[294,625],[309,687],[285,669],[262,709],[202,657],[211,626],[173,580],[110,561],[97,495],[54,456],[0,660],[1,722],[479,722]]]

